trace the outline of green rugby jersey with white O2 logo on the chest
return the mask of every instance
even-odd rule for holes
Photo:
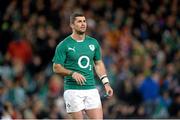
[[[85,85],[78,85],[71,76],[64,77],[64,88],[93,89],[95,79],[93,73],[94,61],[101,59],[99,43],[96,39],[85,36],[83,41],[76,41],[71,36],[60,42],[55,51],[53,62],[61,64],[66,69],[79,72],[85,78]]]

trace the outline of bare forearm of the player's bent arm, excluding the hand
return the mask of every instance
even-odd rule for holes
[[[68,70],[66,68],[64,68],[62,65],[60,64],[53,64],[53,72],[60,74],[62,76],[69,76],[72,75],[73,71]]]

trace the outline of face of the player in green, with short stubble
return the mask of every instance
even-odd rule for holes
[[[87,28],[86,18],[84,16],[76,17],[71,27],[76,31],[77,34],[84,34]]]

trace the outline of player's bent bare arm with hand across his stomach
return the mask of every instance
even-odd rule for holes
[[[72,76],[77,82],[77,84],[83,85],[86,81],[85,77],[80,73],[68,70],[64,68],[61,64],[53,63],[53,71],[62,76]]]

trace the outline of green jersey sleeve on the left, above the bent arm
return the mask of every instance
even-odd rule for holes
[[[66,59],[66,46],[61,42],[57,45],[54,57],[52,59],[53,63],[64,65]]]

